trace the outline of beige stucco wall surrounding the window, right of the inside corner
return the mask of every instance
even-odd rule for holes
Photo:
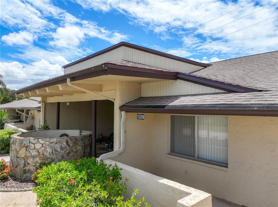
[[[154,174],[244,206],[278,206],[278,118],[228,116],[228,169],[167,157],[169,114],[154,115]]]

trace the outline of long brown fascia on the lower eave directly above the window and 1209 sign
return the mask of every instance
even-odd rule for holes
[[[233,116],[278,116],[278,105],[214,104],[182,106],[121,106],[121,111],[137,113],[203,114]]]

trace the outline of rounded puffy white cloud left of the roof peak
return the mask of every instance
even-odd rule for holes
[[[84,32],[77,26],[59,27],[53,34],[54,41],[49,42],[50,45],[58,47],[78,46],[84,39]]]

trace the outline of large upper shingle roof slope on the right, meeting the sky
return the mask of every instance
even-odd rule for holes
[[[278,90],[278,51],[210,63],[191,74],[259,90]]]

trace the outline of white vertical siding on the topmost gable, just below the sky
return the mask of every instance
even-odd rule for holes
[[[201,66],[192,65],[178,60],[173,60],[167,57],[162,57],[160,55],[154,55],[141,50],[122,46],[114,50],[111,50],[107,53],[93,57],[89,60],[85,60],[81,63],[67,67],[64,69],[64,74],[82,70],[113,60],[128,60],[132,62],[186,73],[204,68]]]

